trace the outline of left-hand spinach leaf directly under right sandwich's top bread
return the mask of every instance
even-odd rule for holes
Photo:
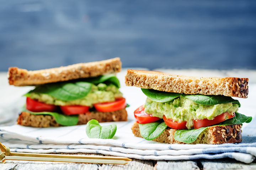
[[[142,89],[142,92],[150,100],[155,102],[161,102],[161,103],[169,102],[181,95],[179,93],[172,93],[172,92],[159,91],[159,90],[153,90],[153,89]]]

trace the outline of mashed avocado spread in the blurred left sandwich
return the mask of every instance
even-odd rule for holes
[[[100,83],[98,85],[93,84],[91,91],[85,97],[76,100],[63,101],[47,94],[34,92],[30,94],[30,97],[32,99],[37,99],[40,102],[59,106],[82,105],[92,107],[95,103],[115,101],[115,98],[122,97],[122,93],[118,90],[118,87],[113,84],[106,85],[104,83]]]

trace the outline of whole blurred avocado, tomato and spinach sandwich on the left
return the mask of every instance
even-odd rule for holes
[[[120,58],[28,71],[10,67],[9,84],[35,86],[17,124],[45,128],[99,122],[127,121],[126,100],[113,73],[121,70]]]

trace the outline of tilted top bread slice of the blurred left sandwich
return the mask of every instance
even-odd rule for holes
[[[122,63],[120,58],[79,63],[65,67],[28,71],[17,67],[10,67],[8,79],[10,85],[34,86],[39,84],[68,81],[79,78],[95,77],[103,74],[120,72]]]

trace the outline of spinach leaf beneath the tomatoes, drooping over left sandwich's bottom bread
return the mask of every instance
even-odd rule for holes
[[[52,117],[54,117],[55,121],[63,126],[74,126],[76,124],[78,124],[78,115],[72,115],[72,116],[68,116],[68,115],[63,115],[60,113],[56,113],[56,112],[30,112],[28,111],[26,108],[22,109],[23,112],[28,112],[30,114],[34,114],[34,115],[51,115]]]

